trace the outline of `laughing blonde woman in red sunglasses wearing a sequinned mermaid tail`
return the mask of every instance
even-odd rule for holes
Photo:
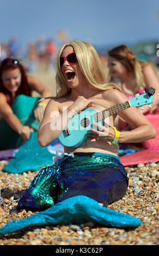
[[[127,100],[117,85],[106,84],[99,56],[87,42],[74,40],[61,48],[56,81],[57,97],[48,102],[38,131],[41,147],[57,139],[71,118],[83,109],[91,107],[102,111]],[[40,170],[18,208],[46,209],[79,195],[104,206],[121,199],[127,191],[128,178],[114,143],[154,138],[155,129],[135,107],[119,115],[134,127],[131,132],[121,132],[118,139],[114,139],[117,115],[109,117],[109,126],[94,123],[90,128],[93,133],[82,145],[64,147],[63,158]]]

